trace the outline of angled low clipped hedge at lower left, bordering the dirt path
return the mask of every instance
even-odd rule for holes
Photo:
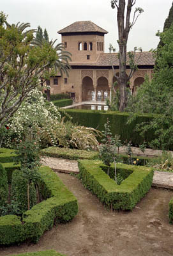
[[[43,200],[40,204],[18,216],[0,218],[0,244],[11,244],[26,239],[36,243],[45,230],[56,223],[73,219],[77,214],[77,199],[49,167],[39,169]]]

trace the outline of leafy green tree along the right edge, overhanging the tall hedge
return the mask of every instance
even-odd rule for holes
[[[158,33],[163,46],[156,51],[157,66],[153,79],[147,78],[137,90],[128,111],[132,113],[154,113],[153,120],[140,124],[139,131],[154,131],[150,146],[169,149],[173,145],[173,24],[163,33]],[[134,117],[134,115],[133,115]]]

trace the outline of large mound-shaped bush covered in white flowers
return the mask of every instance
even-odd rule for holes
[[[27,132],[39,138],[41,147],[56,145],[55,131],[61,122],[61,115],[52,102],[47,102],[38,89],[29,93],[17,112],[10,118],[8,131],[1,132],[1,145],[12,147],[19,143]]]

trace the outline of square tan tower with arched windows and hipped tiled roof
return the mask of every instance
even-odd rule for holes
[[[77,21],[59,30],[72,62],[95,62],[104,53],[104,35],[108,32],[91,21]]]

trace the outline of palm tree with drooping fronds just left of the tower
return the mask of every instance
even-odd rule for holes
[[[57,52],[57,56],[59,60],[57,60],[54,65],[47,67],[47,72],[49,74],[50,68],[55,68],[56,72],[57,70],[61,73],[61,76],[63,76],[63,73],[68,76],[68,71],[70,70],[70,65],[68,61],[71,61],[71,53],[68,51],[64,51],[64,44],[57,44],[55,45],[57,40],[51,40],[49,41],[49,35],[47,33],[47,30],[45,29],[44,35],[41,32],[42,29],[40,26],[38,26],[38,31],[36,32],[36,36],[33,40],[33,45],[37,45],[39,47],[43,47],[44,45],[49,45],[49,47],[52,47]],[[47,100],[50,101],[50,81],[49,79],[45,80],[47,83]]]

